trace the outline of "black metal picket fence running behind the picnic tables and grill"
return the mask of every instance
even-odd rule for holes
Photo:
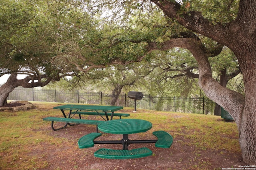
[[[80,103],[110,105],[112,94],[102,92],[58,91],[34,88],[15,88],[7,100],[27,100],[38,102]],[[116,106],[134,107],[134,100],[126,94],[120,94]],[[136,100],[137,109],[172,111],[214,115],[215,102],[208,98],[183,98],[176,96],[152,96],[144,94],[142,100]]]

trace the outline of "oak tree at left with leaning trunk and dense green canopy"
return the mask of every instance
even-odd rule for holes
[[[0,76],[10,77],[0,87],[0,106],[7,105],[8,94],[18,86],[42,87],[76,75],[76,66],[66,57],[79,53],[81,32],[94,30],[82,6],[75,1],[1,1]],[[26,78],[17,79],[17,74]]]

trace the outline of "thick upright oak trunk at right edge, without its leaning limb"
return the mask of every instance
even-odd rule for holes
[[[256,37],[254,37],[256,39]],[[256,42],[256,41],[254,41]],[[246,46],[232,49],[236,54],[244,77],[245,105],[239,115],[239,142],[244,162],[256,164],[256,45],[246,42]],[[243,48],[245,47],[245,48]],[[228,110],[227,110],[228,111]],[[232,115],[232,113],[230,113]],[[233,116],[233,115],[232,115]]]

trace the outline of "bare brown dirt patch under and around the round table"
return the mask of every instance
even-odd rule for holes
[[[222,150],[198,150],[186,145],[189,143],[184,136],[175,136],[174,143],[169,149],[156,148],[154,144],[131,144],[129,149],[148,147],[153,155],[128,159],[110,160],[94,157],[94,152],[100,148],[122,149],[120,144],[95,145],[88,149],[78,149],[77,141],[85,134],[95,131],[93,125],[75,125],[59,131],[52,131],[49,127],[43,129],[53,137],[61,137],[64,142],[50,146],[40,146],[34,149],[36,154],[42,153],[42,161],[47,161],[46,170],[221,170],[222,168],[238,168],[246,165],[242,162],[241,153]],[[152,133],[151,133],[152,134]],[[154,139],[153,135],[129,135],[132,139]],[[104,134],[97,140],[121,140],[120,135]],[[65,145],[62,145],[65,143]],[[47,150],[48,154],[45,154]],[[32,153],[33,153],[32,152]]]

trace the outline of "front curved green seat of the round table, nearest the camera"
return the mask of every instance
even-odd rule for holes
[[[132,150],[114,150],[101,148],[94,153],[95,157],[107,159],[131,159],[151,156],[152,150],[148,148],[138,148]]]

